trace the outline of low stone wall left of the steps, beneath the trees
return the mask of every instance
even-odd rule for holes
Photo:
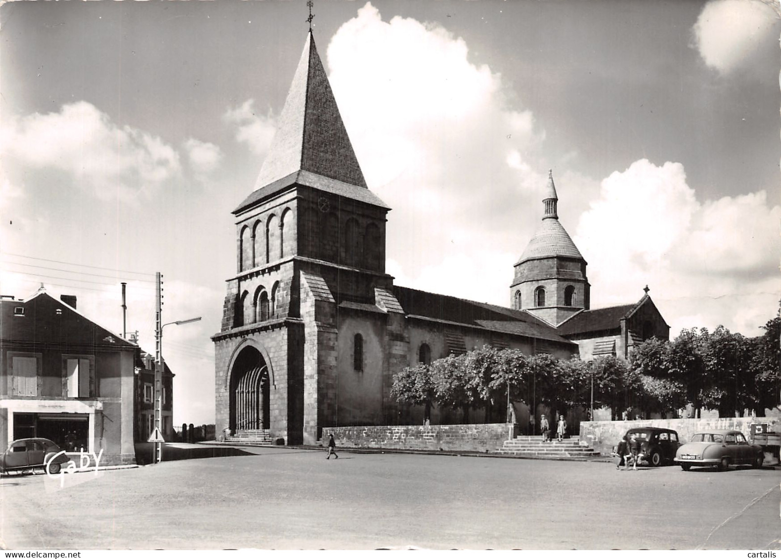
[[[518,426],[512,436],[518,435]],[[321,442],[328,436],[339,447],[394,448],[406,450],[473,450],[495,452],[508,440],[506,423],[472,425],[382,425],[362,427],[324,427]]]

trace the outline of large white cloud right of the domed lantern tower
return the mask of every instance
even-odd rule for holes
[[[680,163],[642,159],[602,181],[573,240],[592,307],[639,299],[648,284],[672,335],[719,324],[758,335],[781,294],[779,221],[764,190],[700,202]]]

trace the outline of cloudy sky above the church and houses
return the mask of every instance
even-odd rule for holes
[[[405,287],[510,304],[552,169],[591,308],[643,288],[671,336],[779,308],[776,6],[316,0],[313,34]],[[214,346],[305,2],[0,6],[0,294],[41,283],[155,351],[214,421]]]

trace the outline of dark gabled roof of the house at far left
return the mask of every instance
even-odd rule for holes
[[[16,315],[16,308],[23,315]],[[59,310],[59,312],[58,312]],[[99,326],[68,304],[39,291],[27,301],[0,301],[0,340],[135,349],[137,345]]]

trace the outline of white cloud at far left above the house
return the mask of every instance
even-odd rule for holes
[[[132,199],[180,176],[177,151],[159,137],[117,126],[87,101],[12,117],[0,131],[6,165],[57,169],[105,198]]]

